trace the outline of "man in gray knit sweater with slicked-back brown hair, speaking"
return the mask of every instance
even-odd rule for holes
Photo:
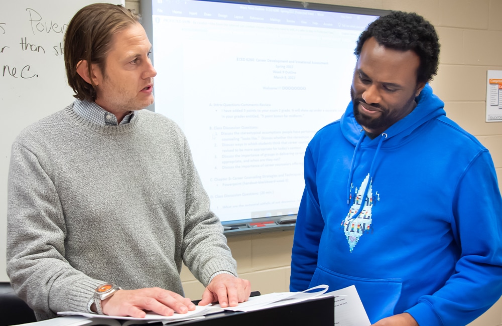
[[[183,261],[207,286],[200,304],[247,300],[183,132],[142,110],[156,71],[137,17],[84,7],[64,44],[75,102],[12,146],[7,272],[18,295],[38,319],[183,313],[195,308],[182,296]]]

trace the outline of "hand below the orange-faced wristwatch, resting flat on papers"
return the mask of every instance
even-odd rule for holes
[[[118,290],[111,297],[101,301],[103,313],[114,316],[143,318],[146,311],[171,316],[175,311],[187,313],[195,309],[189,298],[159,287],[138,290]]]

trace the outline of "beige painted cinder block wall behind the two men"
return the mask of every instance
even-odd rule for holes
[[[485,121],[486,71],[502,70],[501,0],[316,0],[319,3],[416,12],[436,28],[441,42],[439,72],[431,83],[445,101],[447,115],[475,135],[491,152],[502,182],[502,122]],[[140,12],[140,0],[126,1]],[[348,85],[347,85],[348,87]],[[228,244],[241,277],[262,293],[289,288],[293,232],[230,236]],[[203,286],[187,269],[186,295],[200,298]],[[470,326],[502,325],[502,300]]]

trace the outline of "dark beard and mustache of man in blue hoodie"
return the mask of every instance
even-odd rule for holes
[[[390,110],[388,107],[385,107],[378,103],[366,103],[366,101],[364,101],[362,97],[355,97],[352,87],[350,88],[350,97],[352,99],[352,108],[354,111],[355,121],[357,121],[357,123],[359,123],[359,125],[364,127],[364,129],[366,129],[367,131],[371,130],[376,131],[377,133],[387,130],[394,123],[398,122],[406,115],[408,115],[411,111],[413,111],[413,108],[415,107],[413,103],[415,101],[415,96],[411,97],[403,105],[403,107],[393,110]],[[359,112],[359,103],[365,103],[374,108],[378,108],[381,111],[380,116],[374,118]],[[403,115],[403,113],[407,111],[408,113]]]

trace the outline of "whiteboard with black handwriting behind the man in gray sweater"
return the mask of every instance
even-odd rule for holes
[[[0,10],[0,281],[6,272],[7,177],[11,145],[28,125],[70,104],[63,37],[95,0],[10,0]],[[104,1],[124,5],[122,0]]]

